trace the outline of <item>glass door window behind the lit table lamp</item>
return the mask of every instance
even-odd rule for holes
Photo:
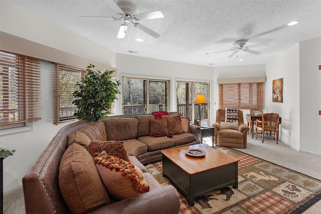
[[[176,103],[177,111],[184,117],[201,120],[201,125],[208,126],[209,105],[194,104],[193,101],[197,94],[204,94],[209,102],[209,83],[177,81],[176,84]],[[194,112],[194,114],[192,114]]]

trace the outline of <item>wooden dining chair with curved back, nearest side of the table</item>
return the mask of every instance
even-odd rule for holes
[[[279,118],[280,115],[276,113],[264,113],[262,114],[262,120],[256,120],[256,139],[257,139],[257,130],[262,131],[262,143],[264,142],[264,132],[273,132],[274,140],[277,142],[278,138],[278,128],[279,128]]]

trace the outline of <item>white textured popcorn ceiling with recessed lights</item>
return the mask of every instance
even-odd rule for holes
[[[158,39],[128,24],[124,39],[117,39],[123,20],[86,20],[80,16],[119,17],[104,0],[12,1],[115,53],[204,66],[265,64],[298,42],[321,36],[321,1],[202,1],[137,0],[137,14],[162,11],[164,18],[138,21],[161,35]],[[117,2],[117,1],[114,1]],[[287,26],[291,21],[300,21]],[[143,42],[135,41],[142,38]],[[268,43],[227,59],[236,40],[246,45]],[[137,53],[129,53],[134,51]],[[206,53],[210,53],[206,55]],[[244,59],[244,61],[239,61]],[[213,65],[210,65],[213,64]]]

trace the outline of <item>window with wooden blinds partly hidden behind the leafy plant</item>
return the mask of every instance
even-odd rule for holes
[[[77,107],[72,103],[74,101],[72,94],[78,90],[76,84],[81,82],[84,75],[84,70],[56,64],[56,81],[54,84],[55,124],[77,119],[74,116]]]

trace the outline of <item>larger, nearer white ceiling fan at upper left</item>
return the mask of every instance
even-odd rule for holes
[[[127,1],[118,1],[115,3],[112,0],[105,0],[105,2],[115,11],[117,12],[121,17],[115,18],[115,17],[95,17],[95,16],[81,16],[82,18],[86,19],[93,19],[93,20],[124,20],[124,24],[120,25],[120,29],[117,35],[117,38],[124,38],[125,34],[127,32],[127,23],[131,22],[136,28],[139,30],[145,32],[146,34],[152,36],[153,38],[157,39],[161,35],[157,34],[156,32],[150,30],[149,28],[136,23],[135,21],[139,20],[150,20],[150,19],[158,19],[158,18],[164,18],[164,15],[161,11],[153,11],[153,12],[147,12],[143,14],[136,14],[136,6],[127,2]],[[134,22],[133,22],[134,20]]]

